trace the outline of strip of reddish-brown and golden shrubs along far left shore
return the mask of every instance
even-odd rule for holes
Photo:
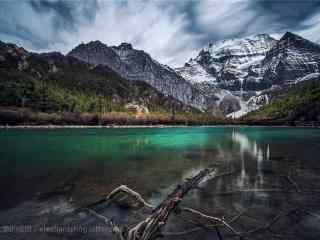
[[[214,125],[231,124],[230,120],[203,113],[166,112],[33,112],[27,108],[0,107],[1,125]]]

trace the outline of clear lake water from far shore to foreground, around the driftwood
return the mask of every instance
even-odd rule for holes
[[[316,193],[320,189],[320,129],[316,128],[11,129],[0,130],[0,146],[0,225],[8,224],[4,216],[15,215],[16,209],[36,201],[39,193],[61,184],[72,184],[63,197],[72,199],[75,206],[95,201],[121,184],[157,204],[185,177],[212,166],[218,174],[232,174],[204,183],[183,204],[226,218],[246,211],[234,224],[241,231],[292,207],[303,207],[317,216],[320,212]],[[118,221],[129,221],[119,212],[114,215]],[[286,232],[284,239],[319,239],[320,222],[307,215],[281,219],[284,226],[288,221],[291,226],[295,223],[290,228],[293,233]],[[175,218],[166,231],[185,229],[186,223]],[[27,219],[33,221],[30,216]],[[15,221],[13,217],[10,223]],[[203,231],[167,238],[199,239],[197,234],[202,234],[200,239],[216,236]],[[270,232],[261,234],[253,239],[265,239]]]

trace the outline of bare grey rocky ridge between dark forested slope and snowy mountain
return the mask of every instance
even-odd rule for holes
[[[108,47],[94,41],[80,44],[68,55],[90,64],[108,66],[128,80],[144,81],[165,96],[172,96],[202,111],[207,110],[210,105],[210,98],[199,89],[173,69],[152,59],[149,54],[133,49],[131,44]]]

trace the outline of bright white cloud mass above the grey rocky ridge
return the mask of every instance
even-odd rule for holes
[[[164,2],[99,1],[99,10],[91,24],[79,26],[76,32],[62,31],[63,43],[49,49],[71,50],[80,42],[100,40],[107,45],[129,42],[148,52],[161,63],[180,66],[193,57],[199,35],[187,30],[188,18]]]

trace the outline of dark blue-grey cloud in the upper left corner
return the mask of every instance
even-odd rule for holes
[[[97,1],[22,0],[0,2],[0,40],[34,50],[63,43],[61,32],[94,21]]]

